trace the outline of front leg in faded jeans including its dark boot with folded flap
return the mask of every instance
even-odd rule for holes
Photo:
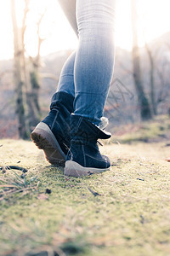
[[[99,153],[97,140],[111,137],[101,129],[101,119],[114,65],[114,11],[114,0],[77,0],[79,47],[71,148],[65,162],[68,176],[103,172],[111,166],[110,160]]]

